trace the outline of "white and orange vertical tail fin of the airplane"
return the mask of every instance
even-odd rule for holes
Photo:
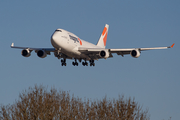
[[[107,40],[108,29],[109,29],[109,25],[106,24],[105,27],[104,27],[104,30],[103,30],[100,38],[99,38],[99,41],[96,44],[97,46],[99,46],[101,48],[105,48],[106,47],[106,40]]]

